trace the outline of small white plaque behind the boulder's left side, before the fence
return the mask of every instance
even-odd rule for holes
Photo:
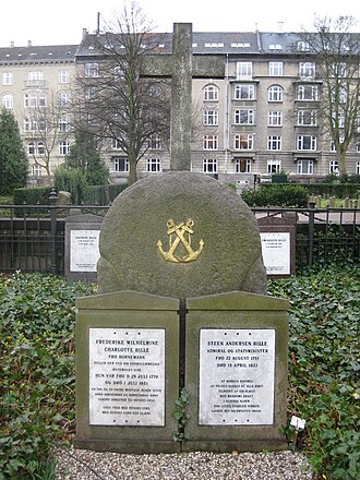
[[[100,230],[70,231],[70,272],[96,272]]]

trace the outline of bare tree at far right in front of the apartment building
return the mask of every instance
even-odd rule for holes
[[[347,172],[346,154],[359,129],[360,35],[350,32],[356,23],[352,16],[316,19],[316,32],[301,34],[316,61],[316,80],[322,82],[317,116],[323,133],[334,142],[340,175]]]

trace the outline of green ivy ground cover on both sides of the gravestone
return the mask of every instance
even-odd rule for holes
[[[290,300],[289,447],[320,479],[360,478],[360,269],[298,273],[269,281]],[[51,447],[75,431],[75,298],[96,286],[40,274],[0,277],[0,479],[53,479]],[[189,399],[191,401],[191,399]]]

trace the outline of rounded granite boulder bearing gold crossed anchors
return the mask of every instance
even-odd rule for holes
[[[227,185],[168,172],[124,190],[105,216],[99,291],[172,298],[266,292],[256,220]]]

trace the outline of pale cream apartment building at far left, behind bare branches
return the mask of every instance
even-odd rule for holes
[[[71,144],[69,103],[76,45],[0,48],[1,106],[14,112],[29,159],[29,182],[41,184]]]

